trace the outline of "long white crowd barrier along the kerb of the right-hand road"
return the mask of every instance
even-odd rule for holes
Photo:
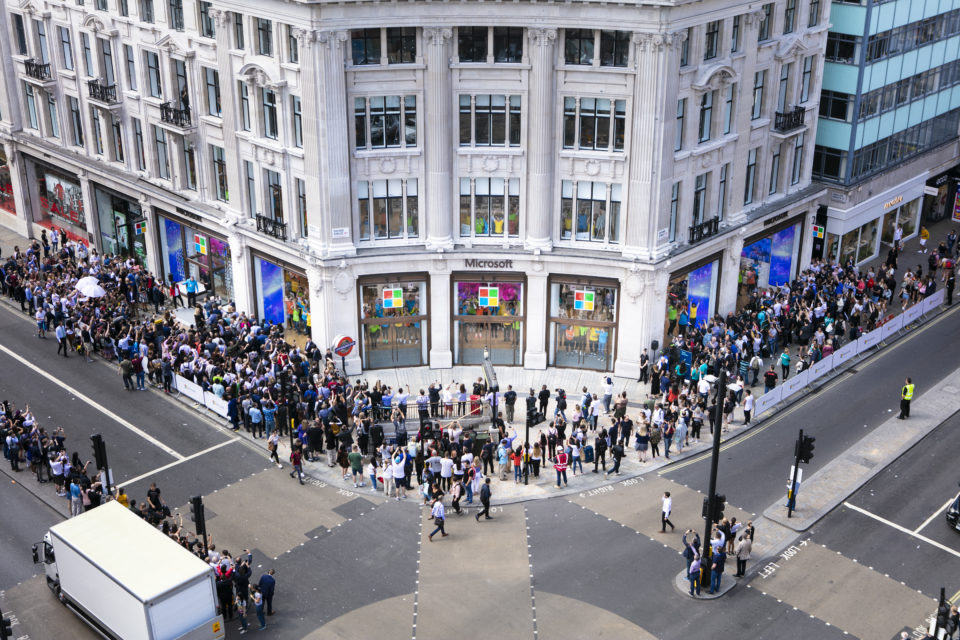
[[[817,378],[825,376],[832,370],[839,368],[847,360],[866,351],[873,349],[881,342],[884,342],[891,336],[901,332],[909,331],[911,323],[919,320],[922,316],[930,313],[941,304],[943,304],[944,292],[941,289],[936,293],[924,298],[922,301],[913,305],[899,316],[885,322],[882,326],[865,333],[856,342],[850,342],[834,351],[831,355],[823,357],[819,362],[805,371],[787,378],[780,386],[772,391],[763,394],[754,401],[754,415],[759,416],[775,404],[786,400],[795,393],[813,383]]]

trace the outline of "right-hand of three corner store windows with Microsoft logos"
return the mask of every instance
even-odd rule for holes
[[[550,283],[551,366],[613,370],[618,294],[612,283]]]

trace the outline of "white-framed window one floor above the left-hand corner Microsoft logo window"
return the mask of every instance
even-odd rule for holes
[[[362,241],[418,237],[417,180],[358,182],[357,216]]]

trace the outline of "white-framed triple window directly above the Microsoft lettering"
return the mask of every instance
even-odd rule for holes
[[[519,235],[519,178],[460,178],[461,238]]]

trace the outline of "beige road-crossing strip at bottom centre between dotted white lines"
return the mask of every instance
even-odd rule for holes
[[[428,516],[423,509],[416,636],[433,640],[475,629],[490,638],[533,637],[523,506],[499,507],[493,520],[479,523],[473,513],[457,516],[448,509],[450,535],[438,533],[433,542]],[[472,605],[462,604],[462,597]]]

